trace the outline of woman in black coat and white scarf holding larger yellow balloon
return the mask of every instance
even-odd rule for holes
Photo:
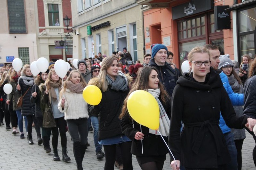
[[[167,124],[161,123],[162,126],[160,127],[168,128],[159,129],[167,143],[170,127],[169,117],[171,116],[171,103],[168,93],[164,90],[164,86],[159,82],[157,77],[158,73],[155,67],[143,67],[129,94],[136,90],[145,90],[157,99],[159,108],[162,108],[160,109],[160,112],[164,110],[167,113],[163,113],[165,117],[161,116],[161,119],[166,119]],[[120,114],[120,118],[122,119],[120,125],[122,132],[132,141],[131,153],[136,155],[137,161],[142,170],[161,170],[166,160],[166,154],[169,152],[168,148],[160,137],[160,134],[156,134],[156,130],[149,129],[148,127],[141,125],[142,132],[140,132],[140,124],[132,120],[129,116],[127,110],[128,97],[129,95],[124,101],[123,111]],[[141,144],[141,140],[143,144]]]

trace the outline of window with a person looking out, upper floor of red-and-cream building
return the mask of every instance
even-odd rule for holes
[[[48,4],[48,20],[49,26],[60,26],[58,4]]]

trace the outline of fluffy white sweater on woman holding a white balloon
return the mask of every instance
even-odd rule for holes
[[[82,94],[73,93],[69,89],[66,89],[64,92],[64,98],[64,109],[62,110],[61,100],[58,103],[58,109],[60,112],[65,113],[65,120],[89,118],[88,106],[84,101]]]

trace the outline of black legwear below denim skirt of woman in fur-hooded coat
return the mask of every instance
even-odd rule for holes
[[[124,170],[132,170],[131,159],[131,141],[118,144],[121,149]],[[116,144],[103,145],[105,151],[105,167],[104,170],[114,170],[115,156],[116,156]]]

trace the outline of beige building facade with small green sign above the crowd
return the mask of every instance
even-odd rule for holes
[[[134,0],[77,0],[71,2],[73,58],[111,56],[126,47],[133,61],[143,60],[143,20],[141,5]]]

